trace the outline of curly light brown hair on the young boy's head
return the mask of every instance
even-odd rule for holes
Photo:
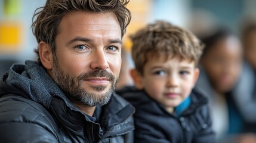
[[[142,75],[149,57],[159,56],[164,52],[166,59],[170,55],[173,57],[178,55],[181,60],[190,59],[197,64],[204,48],[203,43],[189,30],[166,21],[148,24],[130,38],[135,69]]]

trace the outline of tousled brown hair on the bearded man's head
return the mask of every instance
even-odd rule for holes
[[[36,40],[51,46],[55,55],[55,37],[60,21],[71,11],[90,11],[94,13],[115,13],[121,26],[122,36],[131,21],[131,12],[126,8],[129,0],[47,0],[44,7],[39,7],[33,15],[32,29]],[[38,48],[38,63],[41,65]]]

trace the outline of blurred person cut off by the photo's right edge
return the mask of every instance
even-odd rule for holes
[[[241,39],[244,55],[243,74],[234,96],[248,123],[247,130],[256,132],[256,20],[254,18],[246,18],[243,21]]]

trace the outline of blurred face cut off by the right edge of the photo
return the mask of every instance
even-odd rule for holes
[[[256,70],[256,29],[245,36],[243,46],[245,59]]]

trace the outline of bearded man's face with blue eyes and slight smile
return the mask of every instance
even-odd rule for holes
[[[121,27],[113,13],[76,11],[61,20],[52,76],[76,104],[106,104],[121,69]]]

